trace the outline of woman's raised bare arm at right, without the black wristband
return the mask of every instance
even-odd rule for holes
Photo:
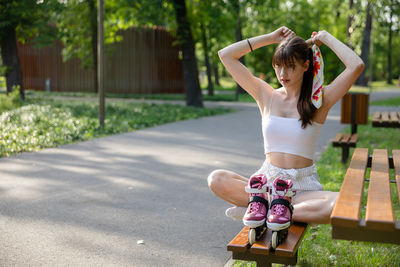
[[[323,105],[328,110],[350,90],[353,83],[364,70],[361,58],[349,47],[327,31],[320,31],[313,38],[317,45],[327,45],[346,66],[345,70],[329,85],[324,87]]]

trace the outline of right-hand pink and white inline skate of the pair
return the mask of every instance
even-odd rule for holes
[[[271,192],[271,207],[267,216],[267,227],[271,229],[271,247],[273,250],[283,242],[292,224],[292,180],[278,177],[274,180]]]

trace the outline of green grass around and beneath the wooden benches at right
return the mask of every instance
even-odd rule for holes
[[[370,120],[372,117],[370,117]],[[349,128],[345,130],[350,132]],[[367,147],[370,153],[375,148],[400,148],[398,129],[358,126],[357,147]],[[353,149],[351,150],[352,153]],[[341,149],[329,146],[316,166],[325,190],[339,191],[349,163],[341,163]],[[391,179],[394,172],[391,170]],[[365,183],[365,191],[368,183]],[[400,220],[400,207],[397,189],[391,186],[395,219]],[[366,193],[366,192],[364,192]],[[364,194],[365,196],[366,194]],[[363,199],[364,205],[366,199]],[[365,217],[365,207],[361,211]],[[400,266],[400,246],[391,244],[334,240],[330,225],[310,226],[299,247],[297,266]],[[252,262],[236,261],[234,266],[255,266]],[[280,265],[276,265],[280,266]]]

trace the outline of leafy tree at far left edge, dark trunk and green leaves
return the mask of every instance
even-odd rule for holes
[[[17,39],[33,43],[37,41],[38,44],[41,41],[49,41],[49,38],[41,39],[41,34],[55,35],[56,31],[46,28],[52,27],[48,23],[51,13],[49,11],[54,10],[56,6],[57,1],[50,0],[0,1],[0,18],[3,18],[0,22],[0,48],[7,93],[16,86],[20,88],[21,98],[25,99]]]

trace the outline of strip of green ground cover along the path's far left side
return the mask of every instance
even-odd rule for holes
[[[118,101],[106,103],[105,127],[100,128],[98,101],[27,96],[22,106],[0,111],[0,157],[230,111]]]

